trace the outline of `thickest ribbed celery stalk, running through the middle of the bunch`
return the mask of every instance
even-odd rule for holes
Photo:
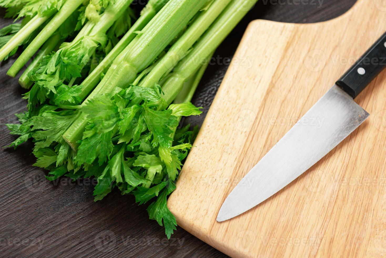
[[[149,66],[173,38],[185,27],[207,0],[171,0],[144,27],[124,49],[125,55],[116,58],[98,86],[85,101],[97,95],[112,93],[116,88],[126,88],[137,73]],[[63,134],[64,140],[76,149],[87,125],[85,115],[80,116]]]

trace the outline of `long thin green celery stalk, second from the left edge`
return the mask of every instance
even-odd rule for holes
[[[34,55],[44,42],[59,28],[59,26],[78,8],[83,0],[67,0],[58,13],[48,22],[34,40],[27,46],[23,53],[16,59],[8,70],[7,75],[15,77],[27,61]]]

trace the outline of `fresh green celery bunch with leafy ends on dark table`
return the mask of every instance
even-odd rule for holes
[[[149,0],[133,24],[129,0],[52,4],[8,71],[15,76],[41,48],[19,79],[32,87],[20,123],[7,125],[19,135],[10,146],[32,139],[34,165],[49,170],[48,180],[96,177],[95,201],[117,188],[149,202],[149,217],[170,237],[176,219],[166,199],[198,132],[178,128],[179,121],[201,113],[190,100],[205,60],[256,1]],[[0,30],[13,49],[22,25]],[[101,61],[90,64],[95,57]]]

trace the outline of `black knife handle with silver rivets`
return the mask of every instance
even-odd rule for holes
[[[355,98],[385,67],[386,32],[359,58],[336,84],[352,98]]]

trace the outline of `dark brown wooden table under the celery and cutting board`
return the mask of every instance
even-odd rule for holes
[[[321,4],[320,4],[321,3]],[[280,22],[320,22],[343,14],[355,0],[260,0],[218,48],[215,64],[208,67],[193,103],[204,107],[198,118],[185,122],[200,125],[212,103],[232,55],[247,24],[254,19]],[[1,27],[9,21],[1,21]],[[301,46],[299,46],[301,47]],[[11,59],[10,61],[12,61]],[[6,75],[12,62],[0,67],[0,146],[15,139],[6,123],[25,108],[17,80]],[[230,103],[231,104],[231,103]],[[0,170],[0,257],[223,257],[182,228],[171,239],[157,222],[149,221],[146,207],[118,191],[101,202],[93,202],[88,180],[57,185],[33,167],[32,144],[16,151],[1,149]]]

